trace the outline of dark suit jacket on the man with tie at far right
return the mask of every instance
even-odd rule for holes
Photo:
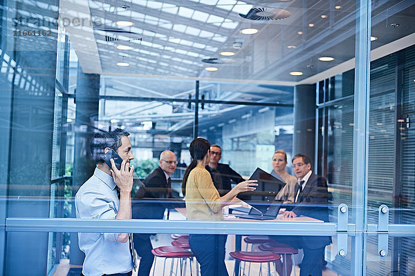
[[[293,208],[295,215],[313,217],[322,221],[329,221],[329,193],[324,177],[311,173],[310,178],[298,195],[297,203]],[[331,243],[331,237],[303,236],[302,244],[308,248],[320,248]]]

